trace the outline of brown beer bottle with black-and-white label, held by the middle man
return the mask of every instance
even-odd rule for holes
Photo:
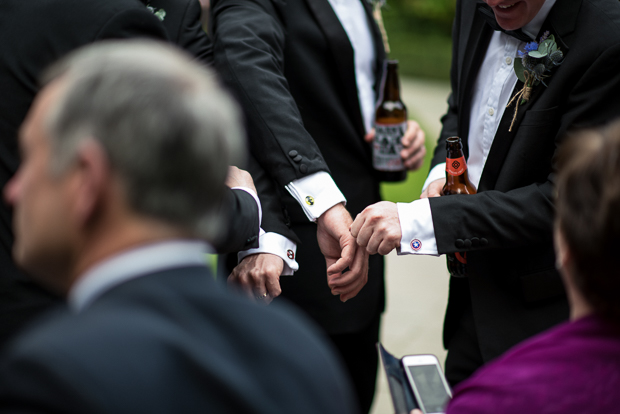
[[[401,138],[407,129],[407,107],[400,99],[398,61],[388,60],[381,97],[375,110],[375,139],[372,144],[373,167],[381,181],[403,181],[407,170],[400,158]]]

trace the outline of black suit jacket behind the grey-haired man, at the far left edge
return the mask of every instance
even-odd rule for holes
[[[52,62],[88,43],[148,36],[166,39],[160,22],[137,0],[43,0],[0,3],[0,186],[19,164],[17,131]],[[56,298],[29,282],[11,257],[11,209],[0,208],[0,344]]]

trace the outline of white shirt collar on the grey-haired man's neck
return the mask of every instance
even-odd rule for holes
[[[171,240],[126,250],[99,262],[71,287],[68,302],[80,312],[114,286],[146,274],[185,266],[206,266],[209,245],[197,240]]]

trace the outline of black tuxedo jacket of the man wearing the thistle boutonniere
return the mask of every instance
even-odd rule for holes
[[[471,88],[492,34],[476,3],[457,2],[452,94],[433,166],[445,162],[451,135],[467,152]],[[514,106],[505,110],[478,194],[430,200],[439,253],[467,252],[471,273],[468,284],[451,281],[444,341],[470,296],[485,360],[567,318],[552,242],[554,158],[571,130],[620,115],[620,3],[558,1],[537,40],[547,30],[564,63],[519,106],[512,133]]]

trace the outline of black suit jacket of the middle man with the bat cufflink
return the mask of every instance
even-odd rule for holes
[[[378,86],[383,46],[370,6],[362,3],[374,35]],[[301,240],[300,269],[280,279],[282,295],[331,333],[365,327],[384,306],[382,258],[371,258],[368,284],[358,296],[340,303],[326,283],[316,227],[284,189],[329,171],[353,216],[380,199],[344,28],[328,0],[215,0],[209,28],[215,66],[246,112],[252,155],[284,207],[278,228],[263,227]]]

